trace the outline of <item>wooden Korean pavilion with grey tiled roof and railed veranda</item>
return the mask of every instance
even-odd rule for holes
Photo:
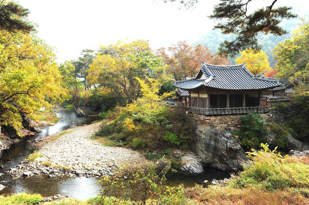
[[[274,78],[253,75],[245,64],[211,65],[202,63],[197,76],[175,81],[180,90],[189,92],[190,111],[206,115],[267,112],[261,106],[263,91],[280,87]]]

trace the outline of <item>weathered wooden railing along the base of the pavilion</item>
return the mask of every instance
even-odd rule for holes
[[[186,107],[188,112],[202,115],[224,115],[241,113],[265,113],[269,111],[269,106],[245,107],[245,108],[194,108]]]

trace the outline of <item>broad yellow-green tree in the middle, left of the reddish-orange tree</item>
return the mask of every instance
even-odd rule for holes
[[[163,79],[168,78],[166,68],[163,59],[151,52],[147,41],[118,41],[100,48],[87,70],[89,75],[86,79],[115,96],[117,104],[125,105],[140,96],[137,78],[163,82]]]

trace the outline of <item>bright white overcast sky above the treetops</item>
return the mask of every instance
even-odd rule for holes
[[[179,40],[194,42],[210,31],[218,0],[199,0],[193,10],[161,0],[19,0],[30,10],[29,19],[39,24],[38,36],[57,49],[57,62],[76,59],[82,49],[96,50],[119,39],[149,40],[153,49]],[[256,3],[268,0],[257,0]],[[279,0],[289,4],[289,0]],[[308,1],[294,0],[300,9]],[[290,5],[287,5],[290,6]],[[306,9],[307,10],[307,9]]]

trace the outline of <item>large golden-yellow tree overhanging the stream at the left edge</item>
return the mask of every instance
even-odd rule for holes
[[[34,34],[0,31],[0,126],[19,135],[21,115],[66,96],[53,49]]]

